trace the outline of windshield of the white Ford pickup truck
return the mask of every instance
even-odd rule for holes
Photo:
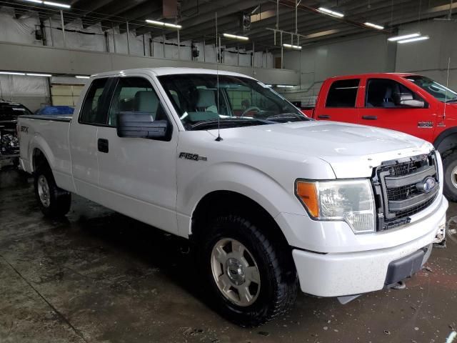
[[[188,130],[309,120],[295,106],[259,81],[214,74],[159,76]],[[218,122],[220,121],[220,123]]]

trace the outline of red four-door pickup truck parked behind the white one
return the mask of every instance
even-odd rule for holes
[[[416,74],[326,79],[312,111],[317,120],[403,131],[430,141],[443,159],[444,194],[457,202],[457,92]]]

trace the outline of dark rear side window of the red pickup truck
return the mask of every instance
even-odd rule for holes
[[[333,81],[328,90],[326,107],[356,107],[358,84],[360,79]]]

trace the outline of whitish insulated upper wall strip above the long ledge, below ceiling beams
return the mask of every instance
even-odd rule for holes
[[[35,31],[44,25],[44,39],[36,39]],[[65,41],[64,41],[65,36]],[[152,43],[149,40],[152,39]],[[103,31],[100,24],[84,28],[82,21],[65,24],[65,35],[61,29],[60,18],[49,18],[40,22],[38,14],[30,11],[27,15],[16,18],[14,9],[0,6],[0,41],[54,46],[66,49],[87,51],[114,52],[117,54],[131,54],[134,56],[155,56],[166,59],[181,59],[191,61],[191,41],[181,41],[178,52],[177,39],[164,39],[163,36],[152,37],[150,34],[136,36],[134,29],[127,33],[119,30],[119,26]],[[129,46],[127,46],[129,41]],[[216,62],[216,48],[214,44],[195,43],[200,51],[196,61]],[[224,46],[222,46],[224,49]],[[251,66],[251,51],[228,49],[224,54],[224,63],[232,66]],[[269,55],[269,56],[268,56]],[[273,68],[271,53],[256,52],[254,66],[257,68]]]

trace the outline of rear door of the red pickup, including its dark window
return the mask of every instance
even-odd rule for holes
[[[360,79],[330,79],[324,83],[318,96],[315,118],[357,123],[359,86]]]

